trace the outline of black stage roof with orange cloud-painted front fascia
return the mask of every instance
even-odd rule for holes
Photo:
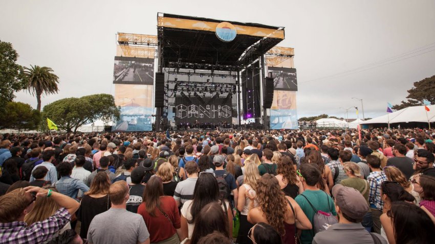
[[[231,23],[234,40],[217,38],[216,26]],[[285,37],[284,27],[159,13],[158,39],[163,66],[194,69],[239,70],[250,64]],[[192,67],[193,66],[193,67]]]

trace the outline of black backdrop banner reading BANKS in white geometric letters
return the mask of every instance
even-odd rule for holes
[[[175,97],[175,124],[193,125],[196,120],[200,124],[217,125],[232,123],[231,99],[226,97]]]

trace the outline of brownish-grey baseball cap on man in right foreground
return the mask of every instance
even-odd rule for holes
[[[367,201],[355,188],[337,184],[332,187],[332,196],[341,211],[353,219],[362,219],[368,211]]]

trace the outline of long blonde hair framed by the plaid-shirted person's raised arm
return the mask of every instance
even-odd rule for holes
[[[56,187],[53,186],[42,188],[58,192]],[[29,226],[33,223],[43,221],[52,216],[59,208],[59,204],[57,204],[52,198],[37,197],[32,210],[24,216],[24,222]]]

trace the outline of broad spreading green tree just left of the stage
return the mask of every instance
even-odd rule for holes
[[[61,99],[44,106],[42,121],[50,118],[59,130],[76,132],[77,129],[97,119],[105,122],[119,119],[120,109],[110,94],[94,94],[80,98]],[[47,123],[41,124],[48,130]]]

